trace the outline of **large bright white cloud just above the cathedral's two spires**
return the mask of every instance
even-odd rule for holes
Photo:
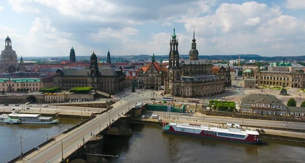
[[[265,4],[248,2],[241,5],[221,4],[214,14],[195,18],[181,17],[177,22],[185,23],[189,32],[193,30],[193,26],[197,26],[200,27],[196,30],[198,33],[215,34],[248,30],[247,26],[259,25],[280,15],[277,8],[270,9]]]

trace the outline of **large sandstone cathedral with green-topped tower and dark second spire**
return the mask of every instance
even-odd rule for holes
[[[212,74],[212,63],[198,60],[195,29],[189,60],[179,61],[178,38],[174,32],[170,39],[169,67],[165,77],[164,93],[180,97],[205,97],[225,91],[230,85],[230,68],[220,75]],[[226,84],[227,81],[227,84]]]

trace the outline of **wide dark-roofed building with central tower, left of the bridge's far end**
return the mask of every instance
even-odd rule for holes
[[[125,74],[121,69],[99,69],[96,54],[90,57],[89,68],[57,69],[53,77],[54,86],[62,90],[75,87],[93,87],[109,94],[124,90]]]

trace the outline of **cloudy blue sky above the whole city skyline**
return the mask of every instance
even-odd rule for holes
[[[304,0],[0,0],[0,42],[18,57],[179,54],[301,56]],[[1,47],[0,47],[1,49]]]

